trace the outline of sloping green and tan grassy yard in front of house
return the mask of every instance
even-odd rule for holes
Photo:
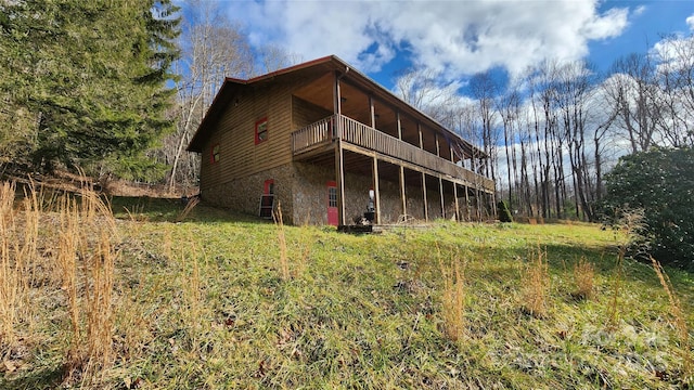
[[[618,261],[620,231],[439,221],[347,235],[203,205],[177,223],[176,200],[114,198],[60,272],[65,212],[38,200],[36,259],[12,284],[28,204],[2,216],[2,389],[693,385],[693,277],[666,269],[670,298],[651,264]]]

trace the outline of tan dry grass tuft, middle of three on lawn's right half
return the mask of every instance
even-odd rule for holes
[[[530,315],[542,318],[547,315],[550,275],[547,251],[538,246],[530,251],[530,262],[520,277],[523,284],[523,308]]]

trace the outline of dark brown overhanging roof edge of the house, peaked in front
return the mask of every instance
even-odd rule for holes
[[[232,100],[232,98],[243,88],[247,88],[255,84],[262,84],[268,81],[279,80],[284,76],[296,75],[301,72],[310,72],[310,70],[337,70],[342,72],[346,77],[349,77],[354,82],[363,86],[363,88],[374,95],[378,95],[381,99],[384,99],[386,102],[407,110],[414,118],[423,121],[426,126],[432,127],[436,131],[440,132],[447,139],[454,139],[460,144],[464,145],[465,148],[470,151],[474,151],[475,155],[484,156],[485,154],[474,145],[472,145],[468,141],[461,138],[458,133],[447,129],[438,121],[429,117],[428,115],[422,113],[417,108],[411,106],[409,103],[404,102],[400,98],[396,96],[393,92],[372,80],[364,74],[355,69],[352,66],[337,57],[336,55],[330,55],[321,58],[317,58],[313,61],[305,62],[298,65],[290,66],[287,68],[283,68],[280,70],[271,72],[269,74],[254,77],[247,80],[236,79],[232,77],[224,78],[224,82],[221,88],[217,92],[213,104],[207,109],[207,114],[203,118],[197,131],[193,135],[191,140],[188,151],[202,153],[205,141],[208,139],[210,133],[215,129],[215,125],[223,114],[228,103]]]

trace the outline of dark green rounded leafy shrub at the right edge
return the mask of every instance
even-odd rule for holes
[[[650,251],[664,263],[694,269],[694,150],[653,148],[621,157],[605,184],[607,214],[643,209],[640,233]]]

